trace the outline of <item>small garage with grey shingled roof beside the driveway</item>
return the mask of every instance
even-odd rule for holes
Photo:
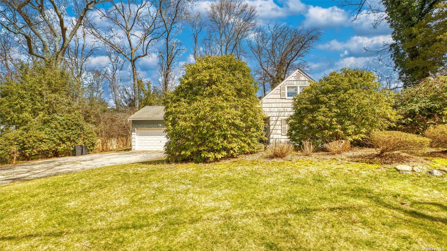
[[[129,117],[132,121],[132,150],[164,150],[164,106],[145,106]]]

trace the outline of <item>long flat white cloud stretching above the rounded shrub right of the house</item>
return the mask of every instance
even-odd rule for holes
[[[363,36],[354,36],[350,37],[347,41],[341,42],[337,39],[333,39],[324,44],[317,45],[318,49],[323,49],[327,51],[336,51],[342,52],[340,57],[345,57],[347,55],[351,56],[364,56],[364,48],[377,48],[384,41],[389,41],[390,38],[387,36],[375,36],[375,37],[363,37]]]

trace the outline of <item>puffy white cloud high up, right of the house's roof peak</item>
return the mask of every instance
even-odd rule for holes
[[[336,6],[329,8],[311,6],[304,16],[306,19],[303,25],[306,27],[328,29],[349,25],[349,14]]]

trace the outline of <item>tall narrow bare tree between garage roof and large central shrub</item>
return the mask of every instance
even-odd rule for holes
[[[190,0],[158,0],[157,6],[160,12],[160,20],[163,29],[163,46],[157,50],[160,73],[160,86],[164,92],[173,86],[175,74],[173,66],[178,62],[186,48],[175,37],[180,35],[182,24],[190,15]]]

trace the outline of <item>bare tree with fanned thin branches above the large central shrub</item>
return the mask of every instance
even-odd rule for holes
[[[213,54],[217,50],[221,56],[244,56],[243,42],[257,25],[256,7],[242,0],[217,0],[211,2],[207,16],[211,21],[208,30],[211,37],[204,40],[207,44],[204,48],[215,46],[216,49],[206,53]]]

